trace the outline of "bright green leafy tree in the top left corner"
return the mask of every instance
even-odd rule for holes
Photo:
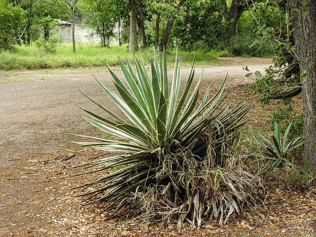
[[[8,48],[16,35],[21,36],[25,29],[26,13],[7,0],[0,0],[0,48]]]

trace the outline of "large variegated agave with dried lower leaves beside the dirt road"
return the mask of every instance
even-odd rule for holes
[[[212,216],[217,217],[221,213],[223,219],[224,212],[230,215],[234,210],[238,211],[236,201],[242,197],[236,190],[240,184],[234,178],[227,178],[223,174],[222,167],[227,164],[227,156],[223,151],[229,140],[234,137],[232,134],[237,134],[236,131],[242,126],[239,121],[249,107],[240,103],[234,108],[221,105],[228,78],[210,99],[208,89],[204,96],[199,98],[198,86],[202,75],[194,86],[193,67],[180,93],[181,73],[177,58],[178,56],[170,93],[165,53],[163,56],[154,54],[154,60],[150,65],[151,77],[141,56],[140,61],[135,57],[136,72],[127,59],[126,66],[119,60],[126,83],[118,79],[108,67],[118,94],[96,79],[127,120],[85,95],[114,118],[103,118],[78,106],[92,118],[85,119],[103,132],[124,140],[81,135],[96,142],[76,142],[80,146],[120,152],[119,155],[79,165],[83,168],[99,167],[84,174],[115,170],[98,180],[77,187],[87,190],[82,194],[87,196],[84,201],[107,201],[109,204],[104,211],[115,209],[112,215],[148,211],[149,206],[154,205],[151,210],[159,209],[158,212],[166,220],[170,218],[170,212],[161,208],[169,207],[169,210],[173,210],[173,214],[178,216],[179,226],[190,213],[194,226],[199,226],[202,214],[212,213]],[[247,172],[240,171],[240,174],[253,180],[253,176]],[[202,176],[210,179],[205,181],[201,179]],[[197,182],[207,183],[212,187],[222,187],[221,182],[224,182],[228,193],[224,194],[219,200],[221,204],[217,206],[217,201],[210,200],[214,199],[212,192],[208,192],[201,186],[202,183]],[[201,195],[198,191],[201,189],[207,195]],[[154,201],[150,201],[149,204],[149,199]],[[223,203],[226,202],[230,203],[229,208],[224,206]]]

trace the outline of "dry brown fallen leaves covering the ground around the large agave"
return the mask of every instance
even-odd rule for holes
[[[253,104],[253,109],[248,113],[250,124],[256,129],[267,129],[264,121],[267,114],[277,108],[277,104],[263,108],[255,101],[251,91],[243,90],[241,85],[227,88],[230,91],[227,101],[238,101],[246,97],[246,103]],[[295,103],[301,109],[300,100]],[[94,131],[97,133],[98,131]],[[70,140],[71,138],[69,138]],[[87,205],[82,203],[82,197],[78,190],[69,190],[80,184],[94,180],[94,174],[70,177],[77,174],[79,170],[69,167],[91,161],[104,154],[90,148],[79,150],[78,147],[66,145],[62,150],[54,154],[46,154],[40,157],[25,155],[23,169],[9,173],[2,172],[1,181],[8,182],[8,192],[14,182],[36,182],[41,186],[39,190],[35,187],[28,190],[29,196],[26,202],[43,204],[37,208],[31,205],[16,203],[16,218],[0,218],[0,229],[5,230],[1,237],[119,237],[119,236],[141,236],[141,237],[194,237],[194,236],[307,236],[316,234],[316,189],[311,187],[306,192],[293,191],[290,184],[282,181],[272,180],[267,184],[268,195],[263,203],[249,211],[239,215],[233,214],[228,219],[228,224],[219,225],[217,220],[203,218],[201,228],[192,230],[190,223],[185,222],[181,229],[176,229],[175,222],[170,222],[162,228],[160,222],[148,223],[136,221],[132,217],[116,217],[106,221],[109,214],[101,213],[105,203]],[[5,205],[5,195],[2,195],[0,207]],[[4,201],[3,201],[4,200]],[[17,213],[16,213],[17,212]],[[19,218],[19,212],[26,214],[26,220]],[[14,221],[12,221],[14,220]],[[36,223],[25,225],[25,223]]]

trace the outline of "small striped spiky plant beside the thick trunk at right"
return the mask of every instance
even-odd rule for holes
[[[290,155],[291,151],[304,144],[304,141],[302,141],[301,137],[294,137],[290,142],[287,141],[287,135],[291,129],[292,122],[293,121],[291,121],[290,124],[287,126],[284,132],[283,139],[281,139],[280,127],[276,121],[272,141],[263,136],[260,132],[258,133],[263,141],[261,141],[259,137],[255,135],[257,144],[266,149],[266,152],[264,153],[267,157],[265,158],[273,160],[271,169],[279,167],[280,164],[284,163],[284,161],[289,162],[290,160],[288,160],[288,156]],[[264,142],[266,142],[267,145]]]

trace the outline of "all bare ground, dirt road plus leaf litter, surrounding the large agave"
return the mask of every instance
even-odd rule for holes
[[[271,64],[271,59],[230,58],[228,66],[206,68],[201,87],[215,90],[228,73],[228,101],[245,97],[253,105],[248,123],[267,128],[264,121],[277,104],[262,107],[251,91],[243,89],[251,79],[245,78],[242,67],[263,72]],[[182,70],[184,79],[189,72]],[[196,79],[200,72],[197,68]],[[292,192],[284,183],[270,187],[265,202],[255,210],[234,216],[226,226],[204,220],[200,230],[191,230],[189,225],[176,230],[173,223],[159,229],[159,223],[146,226],[122,218],[105,221],[107,213],[99,214],[102,206],[84,206],[83,198],[76,197],[79,191],[69,188],[95,177],[70,177],[79,170],[69,167],[104,154],[69,143],[79,138],[66,133],[102,133],[82,118],[83,112],[73,103],[100,112],[82,90],[120,113],[93,76],[114,89],[105,68],[0,71],[0,82],[5,82],[0,84],[0,237],[315,236],[315,192]],[[302,109],[299,99],[296,109]]]

